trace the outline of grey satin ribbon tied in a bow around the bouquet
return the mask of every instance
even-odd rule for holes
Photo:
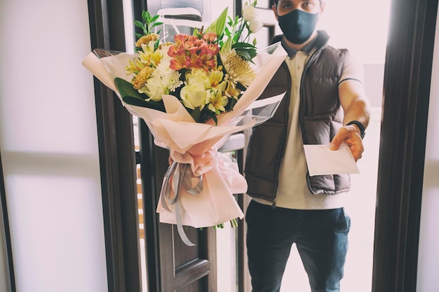
[[[172,180],[172,186],[171,188],[171,182]],[[192,186],[192,179],[196,179],[198,183],[193,187]],[[168,167],[168,170],[166,171],[166,174],[163,178],[163,184],[161,187],[161,205],[163,208],[165,208],[167,211],[170,211],[168,204],[175,205],[175,218],[177,221],[177,230],[180,235],[180,238],[186,244],[187,246],[194,246],[189,238],[187,237],[186,233],[184,232],[183,224],[182,224],[182,215],[180,211],[180,188],[183,187],[184,190],[187,191],[190,195],[196,196],[201,193],[203,190],[203,175],[200,176],[192,176],[191,167],[188,163],[179,163],[179,162],[173,162],[170,167]],[[172,189],[174,189],[174,196],[171,197]]]

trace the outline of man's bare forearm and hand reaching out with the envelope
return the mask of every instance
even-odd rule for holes
[[[358,120],[365,128],[369,125],[369,102],[363,84],[354,80],[344,81],[339,85],[339,99],[344,111],[344,126],[335,134],[330,148],[337,150],[344,142],[351,148],[353,158],[357,161],[364,151],[360,128],[357,125],[346,124]]]

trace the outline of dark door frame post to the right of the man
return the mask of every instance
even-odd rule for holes
[[[417,287],[437,13],[437,0],[393,0],[391,5],[379,148],[374,292],[411,292]]]

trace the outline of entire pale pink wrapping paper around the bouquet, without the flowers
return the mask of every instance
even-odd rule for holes
[[[184,188],[180,178],[176,179],[176,176],[185,176],[179,167],[174,167],[173,173],[163,180],[157,206],[161,223],[176,224],[180,228],[181,225],[203,228],[243,218],[244,214],[234,194],[245,193],[247,182],[238,172],[236,162],[224,158],[222,153],[217,152],[217,148],[227,141],[230,134],[255,126],[257,122],[252,118],[241,119],[237,124],[234,120],[242,117],[252,107],[286,56],[280,43],[270,53],[258,53],[254,60],[257,76],[243,92],[233,111],[217,117],[217,125],[212,120],[196,123],[173,95],[163,95],[166,112],[123,102],[114,78],[129,81],[125,67],[129,58],[133,57],[132,54],[120,53],[98,58],[92,52],[83,60],[83,66],[114,90],[131,114],[144,120],[156,144],[170,149],[173,164],[190,166],[191,176],[186,176],[188,189]],[[274,97],[273,102],[280,102],[282,97]],[[194,192],[191,188],[197,181],[202,190]],[[167,190],[167,194],[164,190]]]

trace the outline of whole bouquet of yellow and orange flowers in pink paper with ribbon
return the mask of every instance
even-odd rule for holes
[[[173,163],[163,179],[157,212],[162,223],[194,228],[243,218],[233,194],[247,183],[236,162],[218,153],[230,134],[263,123],[283,95],[256,100],[286,57],[276,43],[257,51],[250,35],[262,27],[255,2],[243,17],[227,9],[209,27],[193,35],[161,39],[158,15],[135,21],[136,53],[93,50],[83,65],[114,90],[126,109],[142,118],[155,143],[170,149]],[[227,21],[228,20],[228,21]],[[245,35],[245,36],[244,36]]]

